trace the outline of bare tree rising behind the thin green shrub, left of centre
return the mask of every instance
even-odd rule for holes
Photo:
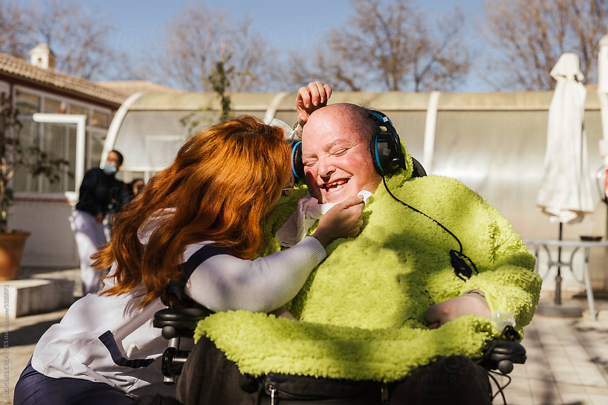
[[[171,85],[188,91],[209,91],[208,78],[226,49],[226,68],[234,68],[232,91],[261,89],[275,56],[268,42],[247,18],[235,21],[201,5],[182,10],[167,25],[165,49],[152,56]],[[224,61],[222,60],[222,61]]]

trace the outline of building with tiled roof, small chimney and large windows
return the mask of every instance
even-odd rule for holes
[[[16,203],[9,211],[9,227],[31,232],[22,267],[78,267],[68,222],[80,186],[74,173],[100,165],[109,124],[126,95],[55,72],[54,55],[48,46],[36,46],[30,56],[28,63],[0,53],[0,95],[18,110],[22,143],[63,158],[69,166],[60,180],[52,183],[24,168],[15,172],[12,188]],[[38,113],[84,116],[85,141],[77,143],[75,124],[35,121],[33,115]],[[84,158],[78,160],[79,154]],[[83,167],[78,168],[78,164]]]

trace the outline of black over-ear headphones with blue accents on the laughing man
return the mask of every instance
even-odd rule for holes
[[[371,161],[379,175],[395,171],[398,168],[406,169],[406,157],[401,149],[399,135],[392,121],[384,113],[375,110],[366,110],[367,116],[379,128],[379,132],[371,137]],[[304,163],[302,163],[302,141],[298,141],[291,148],[291,171],[296,180],[304,180]]]

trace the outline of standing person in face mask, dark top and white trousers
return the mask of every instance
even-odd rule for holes
[[[99,288],[101,273],[92,268],[91,254],[97,253],[108,242],[103,219],[106,214],[119,211],[130,200],[125,183],[114,177],[122,162],[122,154],[111,151],[103,169],[92,168],[85,173],[78,203],[70,216],[80,258],[83,296],[95,293]]]

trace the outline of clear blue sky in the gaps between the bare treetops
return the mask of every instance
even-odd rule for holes
[[[426,13],[444,13],[455,5],[465,13],[468,41],[473,46],[475,24],[482,14],[483,0],[415,0]],[[80,0],[100,10],[118,28],[114,40],[123,50],[141,52],[162,41],[165,22],[190,4],[205,4],[229,15],[248,16],[255,28],[277,49],[307,49],[316,43],[324,30],[341,26],[351,14],[348,0]],[[488,91],[488,86],[469,75],[461,91]]]

